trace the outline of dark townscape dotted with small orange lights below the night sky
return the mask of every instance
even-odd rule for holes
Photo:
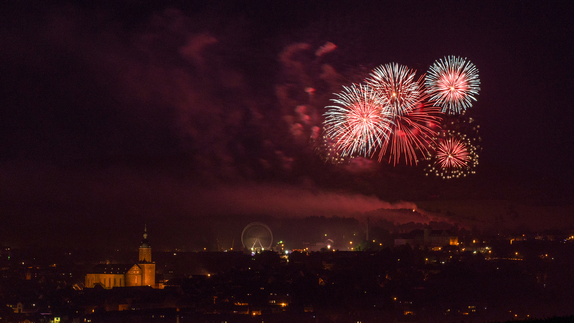
[[[6,252],[0,322],[488,322],[574,313],[574,239],[453,245],[449,234],[438,235],[448,244],[436,251],[154,252],[156,263],[144,239],[139,262],[127,266],[34,264]],[[142,264],[157,267],[156,281],[126,286]],[[83,286],[91,275],[102,281]]]

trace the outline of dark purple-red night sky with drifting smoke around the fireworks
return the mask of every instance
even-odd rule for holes
[[[463,201],[459,215],[492,200],[505,201],[493,211],[503,214],[519,205],[524,215],[513,224],[528,223],[537,207],[565,207],[538,214],[572,225],[572,9],[8,2],[0,18],[0,242],[73,237],[115,247],[118,234],[138,236],[144,222],[169,232],[198,219],[412,205],[444,212],[453,201]],[[315,56],[327,41],[338,48]],[[478,174],[431,180],[420,167],[333,166],[313,152],[309,133],[340,86],[390,62],[422,73],[445,55],[479,69],[468,111],[482,137]],[[181,234],[178,243],[194,239]]]

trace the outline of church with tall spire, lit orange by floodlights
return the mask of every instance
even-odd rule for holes
[[[152,247],[148,241],[148,230],[144,229],[144,240],[139,245],[137,264],[99,264],[95,274],[86,275],[86,287],[102,285],[105,289],[120,286],[152,286],[156,284],[156,264],[152,262]]]

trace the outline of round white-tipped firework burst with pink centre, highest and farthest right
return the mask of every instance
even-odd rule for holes
[[[466,58],[446,56],[430,66],[426,93],[445,113],[460,113],[472,106],[480,90],[478,69]]]

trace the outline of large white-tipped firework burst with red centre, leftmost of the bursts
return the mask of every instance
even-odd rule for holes
[[[370,87],[353,84],[343,89],[333,99],[336,105],[329,106],[325,130],[342,155],[367,156],[387,138],[391,113]]]

